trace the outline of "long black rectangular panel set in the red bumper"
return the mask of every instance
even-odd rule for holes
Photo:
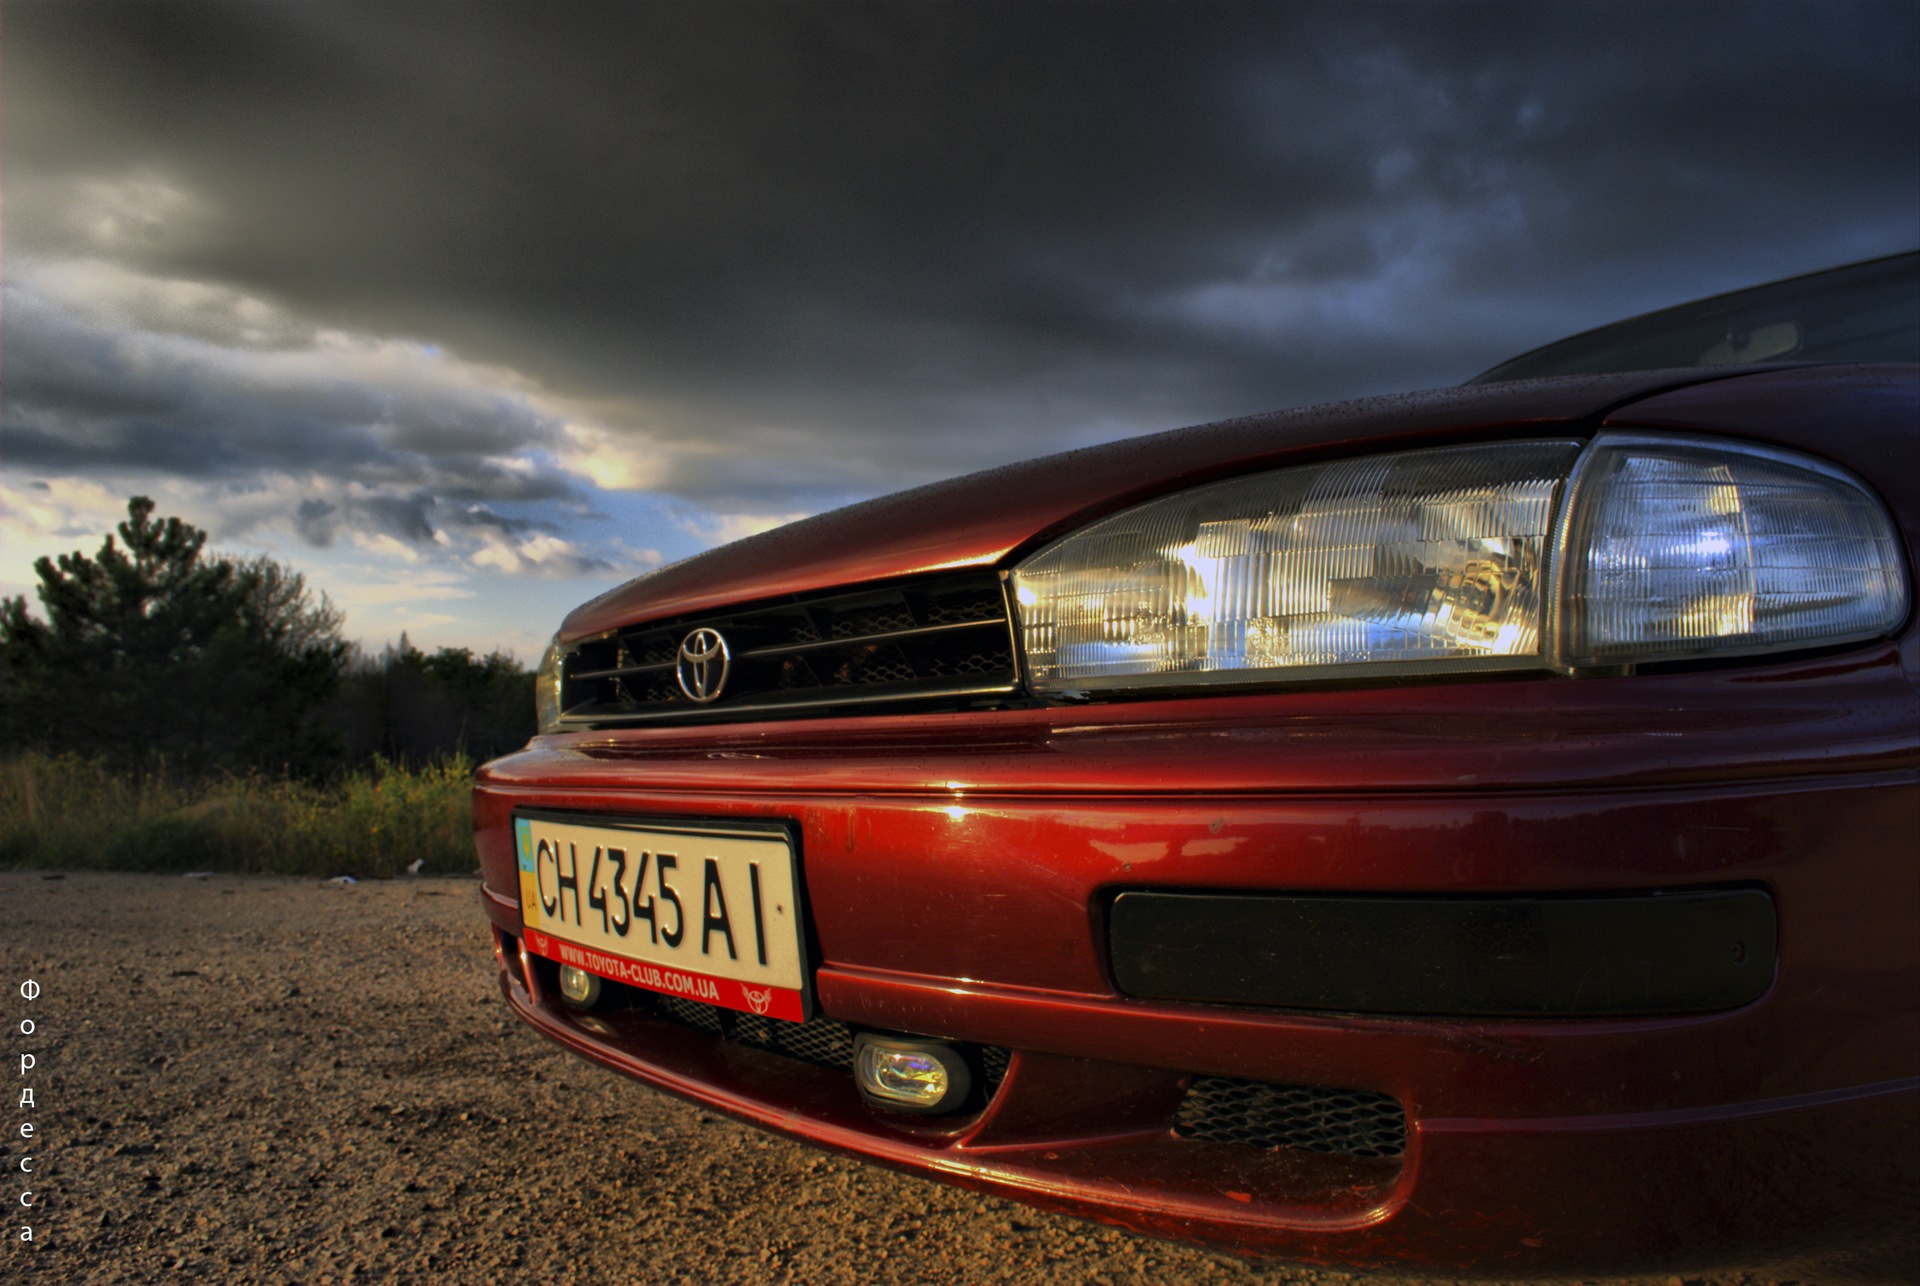
[[[1121,893],[1129,996],[1428,1017],[1697,1013],[1772,985],[1761,889],[1592,896]]]

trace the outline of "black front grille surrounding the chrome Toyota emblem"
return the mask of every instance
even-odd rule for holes
[[[697,630],[726,639],[712,701],[680,683]],[[718,668],[710,670],[718,676]],[[824,708],[954,706],[1016,689],[1014,637],[995,572],[883,589],[797,595],[732,612],[647,622],[582,641],[564,660],[570,724],[741,720]]]

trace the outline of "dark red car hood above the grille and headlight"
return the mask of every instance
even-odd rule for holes
[[[1043,455],[708,549],[574,608],[561,635],[572,641],[787,593],[991,566],[1094,516],[1244,468],[1459,436],[1592,426],[1628,401],[1751,370],[1636,370],[1440,388]]]

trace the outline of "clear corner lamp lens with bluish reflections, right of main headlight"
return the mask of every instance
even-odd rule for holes
[[[1569,666],[1851,643],[1907,616],[1893,522],[1807,457],[1603,438],[1569,503]]]

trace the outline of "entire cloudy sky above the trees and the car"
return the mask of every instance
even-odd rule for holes
[[[776,522],[1920,244],[1891,4],[0,6],[0,593],[526,660]]]

